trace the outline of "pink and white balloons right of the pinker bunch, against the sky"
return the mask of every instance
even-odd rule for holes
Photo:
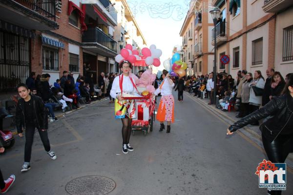
[[[146,57],[147,65],[153,64],[156,67],[161,65],[160,57],[162,56],[162,50],[157,49],[156,45],[150,45],[149,49],[143,48],[142,54]]]

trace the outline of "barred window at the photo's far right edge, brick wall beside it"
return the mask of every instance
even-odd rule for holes
[[[283,61],[293,60],[293,25],[283,31]]]

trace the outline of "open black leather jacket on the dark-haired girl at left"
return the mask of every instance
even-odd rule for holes
[[[34,123],[39,129],[48,129],[48,115],[47,108],[44,106],[42,98],[38,96],[32,96],[34,107]],[[16,108],[16,127],[17,132],[22,133],[22,127],[25,128],[25,115],[24,115],[24,99],[21,98]]]

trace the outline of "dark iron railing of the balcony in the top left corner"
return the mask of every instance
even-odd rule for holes
[[[56,21],[56,0],[16,0],[40,15]]]

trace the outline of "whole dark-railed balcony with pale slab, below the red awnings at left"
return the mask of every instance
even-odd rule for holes
[[[117,42],[97,27],[84,32],[83,48],[106,57],[117,55]]]

